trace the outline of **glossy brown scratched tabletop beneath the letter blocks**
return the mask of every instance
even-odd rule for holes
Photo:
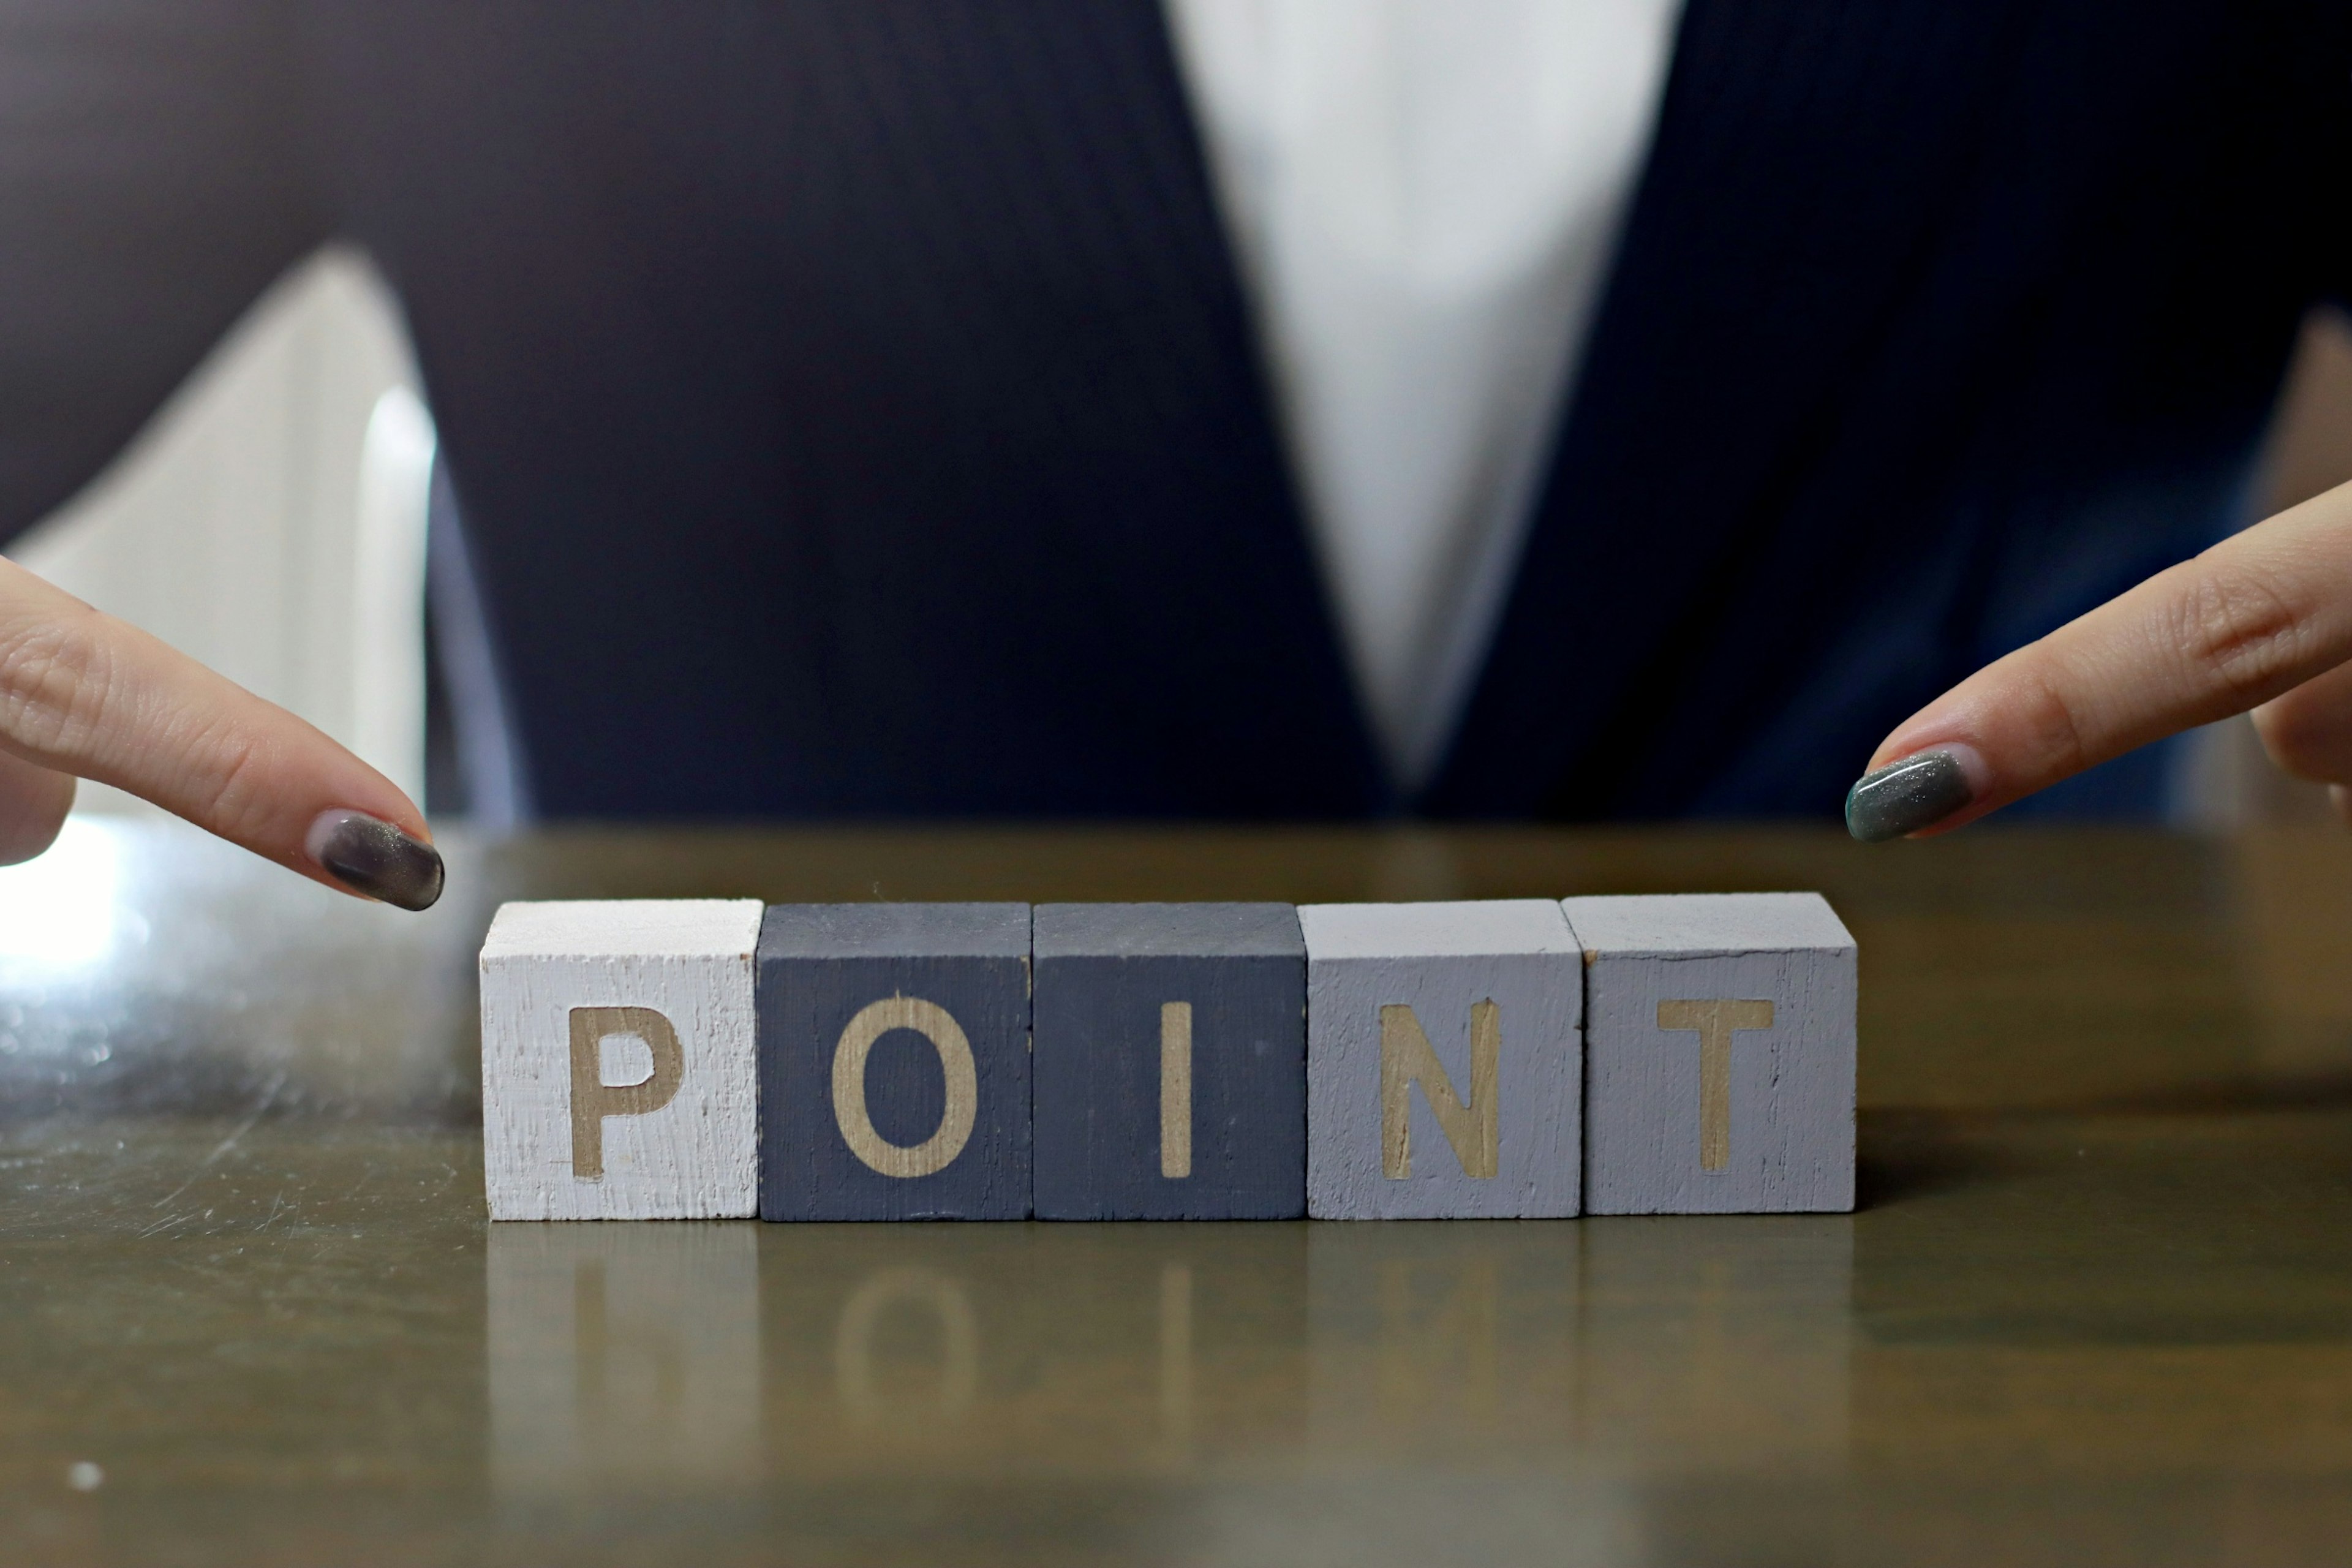
[[[501,898],[1823,889],[1863,1208],[508,1225]],[[2352,844],[572,832],[0,872],[0,1561],[2340,1563]]]

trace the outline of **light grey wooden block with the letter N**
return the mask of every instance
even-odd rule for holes
[[[1324,903],[1308,938],[1308,1213],[1573,1215],[1583,973],[1548,898]]]

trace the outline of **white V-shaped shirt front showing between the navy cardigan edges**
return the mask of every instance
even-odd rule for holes
[[[1364,705],[1468,701],[1679,0],[1167,0]]]

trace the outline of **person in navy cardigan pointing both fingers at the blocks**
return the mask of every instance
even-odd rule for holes
[[[2145,816],[2352,778],[2352,498],[2199,555],[2347,176],[2321,0],[0,0],[0,541],[348,240],[517,816]],[[440,886],[0,567],[71,776]]]

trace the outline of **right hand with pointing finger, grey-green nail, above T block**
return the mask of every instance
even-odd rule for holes
[[[2253,710],[2352,820],[2352,484],[2159,571],[1905,719],[1846,795],[1865,842],[1950,832],[2180,729]]]

